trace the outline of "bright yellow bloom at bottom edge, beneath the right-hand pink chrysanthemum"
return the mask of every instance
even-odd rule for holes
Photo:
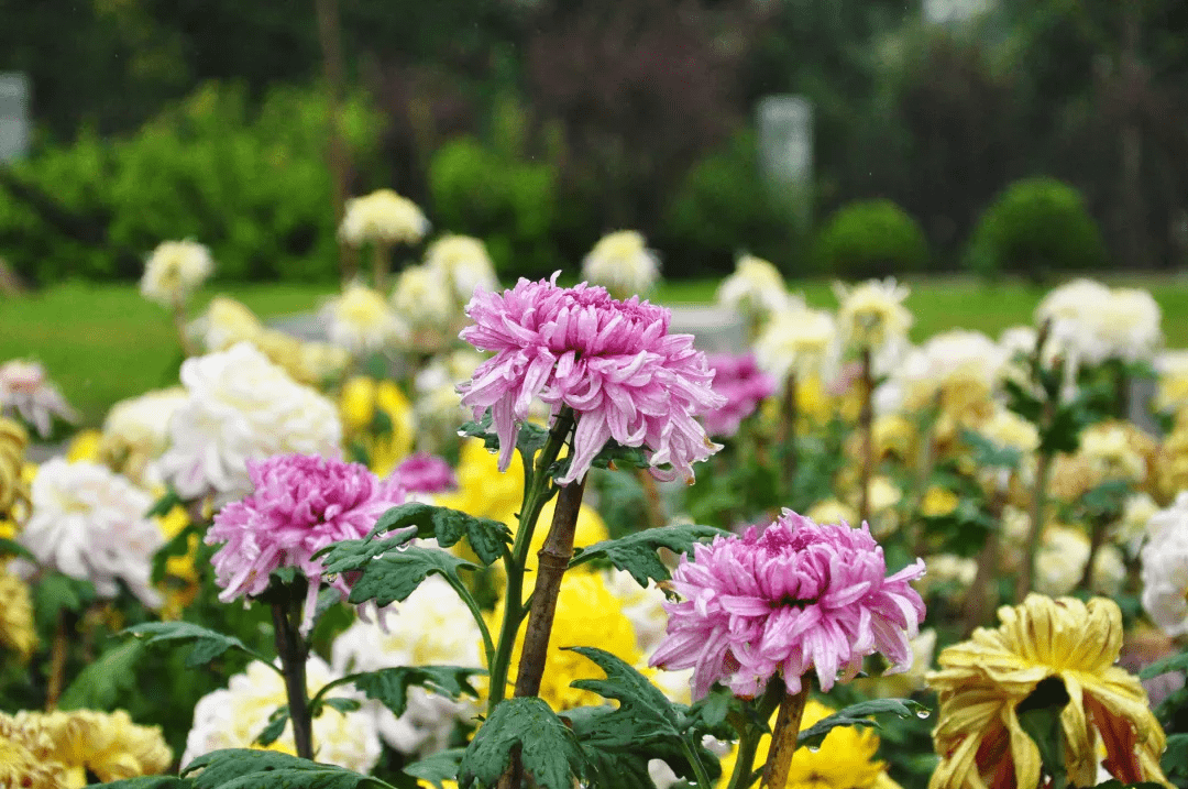
[[[804,705],[801,728],[808,728],[834,712],[836,711],[809,699]],[[771,725],[776,725],[775,714],[771,717]],[[763,765],[767,760],[770,746],[771,737],[764,737],[759,740],[759,747],[754,755],[756,766]],[[874,759],[874,753],[878,750],[879,738],[874,730],[839,726],[826,736],[819,750],[811,751],[801,747],[792,753],[792,764],[788,771],[785,785],[788,789],[898,789],[899,784],[892,781],[886,772],[886,763]],[[719,789],[726,789],[729,784],[737,758],[738,746],[735,745],[729,753],[722,757],[722,777],[718,782]]]

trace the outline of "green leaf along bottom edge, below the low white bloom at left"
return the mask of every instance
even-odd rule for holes
[[[194,789],[356,789],[387,787],[379,778],[277,751],[228,749],[204,753],[183,770]]]

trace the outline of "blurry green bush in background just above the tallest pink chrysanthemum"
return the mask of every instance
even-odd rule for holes
[[[520,162],[460,137],[434,153],[429,190],[435,223],[486,241],[501,279],[541,277],[561,267],[554,240],[557,183],[550,165]]]

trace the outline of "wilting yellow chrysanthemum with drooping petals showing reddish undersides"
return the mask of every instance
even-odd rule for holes
[[[1114,665],[1123,642],[1118,604],[1029,594],[1020,606],[999,608],[998,618],[997,630],[979,627],[969,640],[942,651],[941,670],[928,676],[941,700],[933,732],[941,763],[929,789],[1038,785],[1040,750],[1015,709],[1051,676],[1072,698],[1061,713],[1072,784],[1098,782],[1105,746],[1104,765],[1123,783],[1171,785],[1159,769],[1167,738],[1146,692]],[[1004,772],[1013,778],[993,778]]]

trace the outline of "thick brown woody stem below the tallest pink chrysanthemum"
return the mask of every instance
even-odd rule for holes
[[[552,618],[557,612],[557,595],[561,593],[561,580],[569,567],[569,560],[574,555],[574,532],[577,529],[577,513],[584,492],[584,476],[561,488],[557,507],[552,513],[552,526],[544,538],[544,547],[537,554],[539,569],[536,588],[532,591],[532,611],[529,613],[527,630],[524,633],[519,673],[516,676],[517,696],[535,696],[541,692],[549,636],[552,633]]]

